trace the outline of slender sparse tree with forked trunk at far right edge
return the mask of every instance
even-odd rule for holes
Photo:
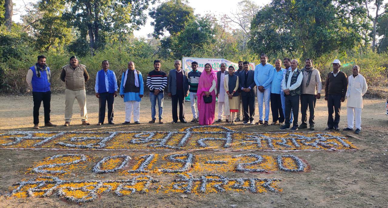
[[[370,7],[368,6],[370,3],[373,2],[373,5],[374,5],[374,10],[375,10],[375,14],[374,16],[371,15],[369,13],[369,9]],[[372,31],[372,38],[373,38],[373,42],[372,42],[372,51],[374,52],[375,48],[376,48],[376,30],[377,30],[377,23],[379,21],[379,17],[381,15],[384,15],[385,14],[385,9],[388,8],[388,4],[385,4],[384,5],[384,1],[383,0],[364,0],[364,4],[365,4],[365,8],[367,10],[367,14],[368,14],[368,17],[369,19],[372,21],[373,23],[373,31]],[[383,12],[381,12],[381,14],[379,14],[379,11],[380,10],[383,10]]]

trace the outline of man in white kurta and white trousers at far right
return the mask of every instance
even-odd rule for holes
[[[346,92],[346,97],[348,98],[346,103],[348,108],[348,127],[343,129],[343,131],[353,131],[353,123],[355,119],[356,134],[361,132],[361,110],[364,107],[362,103],[362,96],[368,89],[365,78],[359,74],[359,72],[360,67],[355,65],[353,66],[353,76],[348,77],[348,91]]]

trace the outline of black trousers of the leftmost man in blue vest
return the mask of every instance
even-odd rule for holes
[[[45,111],[45,124],[50,122],[50,101],[51,101],[51,91],[47,92],[32,92],[32,98],[34,100],[34,124],[39,124],[39,108],[40,104],[43,101],[43,108]]]

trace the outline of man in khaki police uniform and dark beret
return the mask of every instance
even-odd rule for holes
[[[65,124],[69,126],[71,117],[73,116],[73,104],[77,99],[80,105],[81,121],[83,125],[88,123],[88,115],[86,110],[86,91],[85,82],[88,81],[89,74],[86,66],[78,63],[78,57],[70,57],[70,64],[62,67],[61,80],[66,85],[65,90]]]

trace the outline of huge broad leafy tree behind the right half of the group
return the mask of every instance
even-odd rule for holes
[[[274,0],[251,25],[249,45],[256,53],[287,52],[314,58],[337,49],[353,48],[361,36],[357,18],[361,5],[342,9],[349,1]]]

